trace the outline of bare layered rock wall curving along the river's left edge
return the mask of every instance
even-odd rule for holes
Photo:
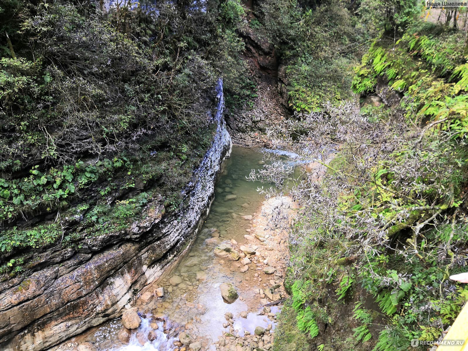
[[[211,203],[221,163],[230,153],[222,81],[217,93],[212,118],[216,132],[182,190],[183,208],[164,215],[160,199],[154,198],[144,219],[124,233],[94,237],[85,249],[51,248],[38,255],[41,268],[29,277],[1,282],[1,350],[44,350],[117,317],[134,294],[190,246]]]

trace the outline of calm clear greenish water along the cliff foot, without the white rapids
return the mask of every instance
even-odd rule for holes
[[[250,279],[245,279],[249,278],[251,272],[232,271],[232,262],[228,260],[220,264],[223,260],[213,254],[216,245],[209,244],[206,240],[212,237],[211,231],[215,228],[215,233],[219,234],[219,240],[222,242],[232,239],[245,241],[244,235],[248,234],[247,230],[251,224],[241,216],[255,214],[264,200],[257,191],[259,184],[248,181],[246,176],[252,169],[262,167],[262,156],[263,154],[256,149],[233,148],[231,158],[225,162],[222,175],[216,184],[211,212],[190,252],[171,274],[182,277],[187,289],[180,289],[180,285],[173,287],[173,291],[169,293],[170,297],[165,301],[166,306],[156,309],[156,314],[165,315],[173,322],[181,325],[190,323],[190,329],[198,336],[216,341],[224,330],[222,324],[226,322],[226,312],[235,316],[241,311],[256,310],[257,306],[249,302],[255,295],[252,289],[259,286],[252,285]],[[235,199],[228,199],[230,195],[235,195]],[[204,277],[203,280],[197,279],[197,272],[198,277]],[[157,284],[167,286],[165,281],[167,280]],[[223,282],[237,285],[243,300],[238,299],[232,304],[227,304],[219,292],[219,285]]]

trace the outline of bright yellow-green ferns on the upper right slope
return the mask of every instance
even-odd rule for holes
[[[402,100],[408,118],[441,121],[439,129],[451,132],[452,138],[463,138],[468,131],[468,66],[460,45],[462,35],[447,32],[435,37],[415,30],[409,28],[395,47],[375,41],[355,68],[352,88],[356,93],[371,93],[377,78],[385,77],[393,89],[408,97]]]

